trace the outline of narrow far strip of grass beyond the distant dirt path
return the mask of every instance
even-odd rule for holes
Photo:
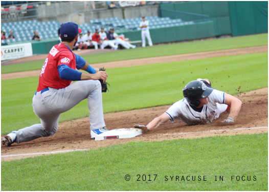
[[[92,64],[92,63],[117,61],[117,60],[236,49],[236,48],[255,47],[264,45],[268,45],[267,33],[258,35],[239,36],[232,38],[182,42],[170,45],[136,48],[136,49],[100,53],[94,55],[84,55],[82,57],[89,64]],[[2,66],[1,73],[4,74],[19,71],[41,70],[43,63],[44,60],[38,60],[33,62],[18,63],[16,65],[11,66]]]

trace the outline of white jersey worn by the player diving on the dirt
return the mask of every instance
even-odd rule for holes
[[[191,108],[188,101],[184,98],[175,102],[165,113],[169,115],[170,120],[182,120],[188,125],[210,123],[213,119],[226,111],[227,104],[225,102],[225,92],[213,90],[208,96],[208,104],[203,106],[201,112],[197,112]]]

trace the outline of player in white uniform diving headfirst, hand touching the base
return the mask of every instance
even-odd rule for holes
[[[211,88],[208,79],[189,82],[183,89],[184,99],[175,102],[164,114],[147,124],[153,130],[168,120],[182,120],[188,125],[211,123],[229,109],[228,119],[222,122],[234,122],[241,109],[242,102],[234,96]],[[142,128],[144,125],[135,125]]]

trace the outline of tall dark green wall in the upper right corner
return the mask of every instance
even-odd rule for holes
[[[209,15],[215,35],[251,35],[268,32],[268,2],[183,2],[161,4],[160,9]],[[167,11],[162,16],[175,17]]]

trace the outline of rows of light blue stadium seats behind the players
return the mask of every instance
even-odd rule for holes
[[[182,19],[170,19],[169,17],[162,18],[158,16],[150,16],[146,17],[146,19],[149,21],[149,29],[193,24],[193,22],[184,22]],[[141,21],[141,17],[130,19],[120,19],[119,17],[114,17],[93,19],[89,20],[89,23],[78,26],[82,30],[83,34],[87,33],[88,30],[94,33],[95,29],[100,30],[101,27],[104,27],[105,31],[108,31],[109,28],[113,27],[117,33],[141,30],[139,27]],[[34,31],[38,32],[41,39],[57,38],[59,27],[60,23],[56,21],[38,22],[38,20],[27,20],[23,22],[2,23],[1,31],[6,32],[6,37],[8,37],[10,30],[13,31],[14,36],[16,37],[15,39],[2,40],[2,42],[10,43],[32,40]]]

